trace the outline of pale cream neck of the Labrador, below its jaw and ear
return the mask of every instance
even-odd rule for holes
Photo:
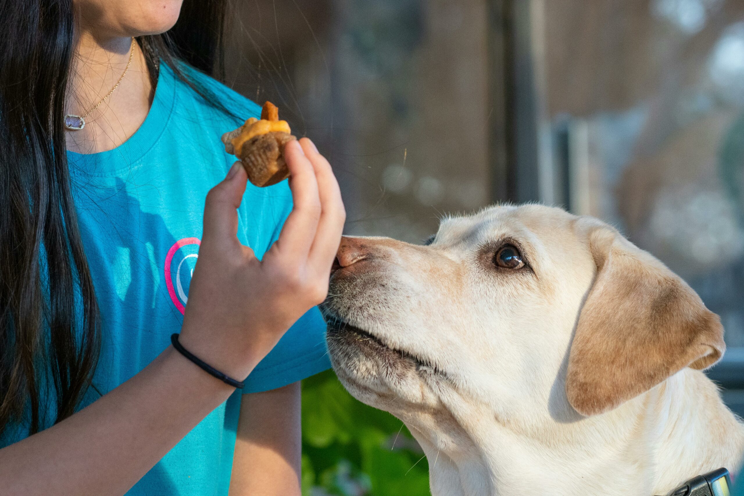
[[[665,495],[715,468],[737,470],[744,451],[744,425],[690,369],[613,412],[556,422],[542,441],[493,422],[453,429],[441,417],[408,425],[429,459],[432,496]]]

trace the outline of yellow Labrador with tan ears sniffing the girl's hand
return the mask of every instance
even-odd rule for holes
[[[344,238],[330,286],[333,367],[405,422],[434,496],[665,495],[740,466],[701,372],[718,316],[597,219],[491,207],[430,245]]]

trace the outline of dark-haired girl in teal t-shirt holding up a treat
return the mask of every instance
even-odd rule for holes
[[[225,1],[181,3],[0,5],[1,495],[299,494],[344,207],[307,138],[246,187]]]

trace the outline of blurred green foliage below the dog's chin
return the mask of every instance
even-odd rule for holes
[[[425,496],[429,467],[403,422],[358,402],[332,370],[302,384],[303,496]]]

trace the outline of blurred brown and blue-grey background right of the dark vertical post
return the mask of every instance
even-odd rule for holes
[[[744,1],[544,5],[548,119],[577,131],[580,213],[684,277],[743,347]]]

